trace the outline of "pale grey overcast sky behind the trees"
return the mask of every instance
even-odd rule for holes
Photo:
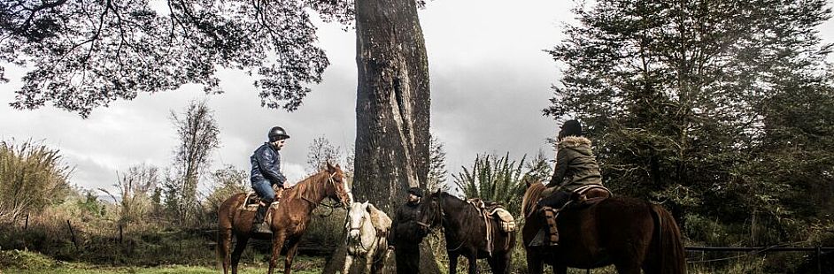
[[[429,54],[431,132],[444,143],[447,169],[471,166],[476,154],[507,152],[513,159],[535,155],[559,125],[542,116],[560,72],[543,49],[560,42],[571,22],[570,1],[437,0],[420,11]],[[58,148],[75,167],[72,183],[113,189],[116,171],[135,164],[166,167],[177,135],[171,110],[190,100],[207,100],[220,127],[221,148],[213,168],[232,164],[250,168],[249,156],[271,126],[283,126],[291,138],[282,150],[283,171],[291,181],[305,175],[308,146],[318,136],[351,148],[356,136],[355,34],[341,26],[319,24],[320,46],[331,65],[295,112],[260,107],[252,79],[243,72],[221,71],[226,93],[207,96],[189,85],[157,95],[93,110],[90,118],[51,106],[13,110],[8,106],[24,68],[6,65],[10,83],[0,84],[0,140],[29,139]],[[834,22],[821,28],[834,42]],[[450,175],[451,175],[450,173]],[[451,182],[452,177],[449,177]]]

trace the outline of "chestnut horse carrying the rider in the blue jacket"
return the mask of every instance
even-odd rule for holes
[[[345,207],[350,206],[350,194],[348,194],[347,187],[344,184],[344,173],[339,165],[332,166],[328,164],[326,170],[313,174],[313,176],[302,180],[296,186],[283,192],[278,209],[269,209],[272,211],[270,229],[273,234],[272,258],[269,260],[267,273],[273,273],[276,265],[275,261],[278,259],[285,240],[287,258],[284,261],[284,273],[290,273],[290,266],[292,266],[292,259],[296,255],[298,240],[301,240],[301,236],[307,228],[313,209],[324,198],[329,197],[342,202]],[[246,200],[246,195],[243,193],[232,195],[218,209],[220,232],[218,233],[217,248],[218,255],[223,260],[223,273],[228,273],[230,264],[232,273],[237,273],[237,263],[240,262],[240,255],[243,253],[243,248],[246,247],[246,242],[252,236],[251,225],[255,212],[241,209],[242,203]],[[229,257],[228,251],[233,234],[237,238],[237,244],[231,257]]]

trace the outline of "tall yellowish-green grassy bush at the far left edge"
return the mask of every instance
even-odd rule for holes
[[[0,141],[0,223],[62,201],[72,169],[58,149],[26,141]]]

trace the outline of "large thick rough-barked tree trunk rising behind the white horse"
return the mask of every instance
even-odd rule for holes
[[[356,1],[354,193],[386,212],[429,173],[429,61],[413,0]]]

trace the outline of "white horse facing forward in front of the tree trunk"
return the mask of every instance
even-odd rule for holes
[[[364,273],[382,269],[388,255],[388,230],[391,219],[385,212],[368,202],[353,202],[348,211],[347,256],[344,258],[344,273],[349,273],[354,258],[365,258]]]

